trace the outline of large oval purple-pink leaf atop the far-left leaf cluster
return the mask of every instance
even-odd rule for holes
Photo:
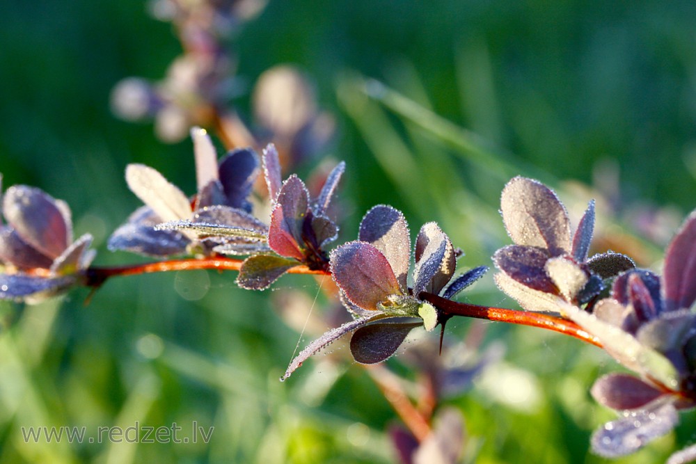
[[[3,211],[22,241],[47,257],[60,256],[72,241],[70,221],[56,200],[40,189],[11,186],[3,198]]]

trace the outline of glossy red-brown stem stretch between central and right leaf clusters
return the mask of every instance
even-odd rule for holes
[[[568,319],[551,316],[551,314],[457,303],[456,301],[451,301],[434,294],[420,294],[420,296],[448,316],[475,317],[476,319],[487,319],[489,321],[500,321],[520,324],[522,326],[545,328],[547,330],[554,330],[555,332],[570,335],[571,337],[576,337],[577,339],[583,340],[583,342],[602,348],[599,339],[587,333],[583,328],[578,326],[578,324]]]

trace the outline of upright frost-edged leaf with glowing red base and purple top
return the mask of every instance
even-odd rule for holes
[[[308,206],[305,185],[296,175],[291,175],[278,193],[269,225],[268,244],[278,255],[304,259],[302,232]]]

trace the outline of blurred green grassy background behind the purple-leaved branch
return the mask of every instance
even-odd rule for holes
[[[191,143],[165,145],[152,125],[117,120],[109,93],[124,77],[161,79],[180,53],[171,25],[136,0],[15,2],[0,13],[3,184],[68,201],[76,233],[95,236],[96,264],[138,261],[105,248],[139,206],[123,170],[146,163],[191,193]],[[462,269],[490,264],[508,243],[500,190],[522,174],[557,189],[574,221],[598,198],[601,243],[628,240],[640,264],[658,269],[659,250],[695,207],[692,1],[271,1],[232,43],[248,82],[294,63],[335,114],[330,154],[347,161],[342,239],[355,237],[369,207],[388,203],[412,231],[441,223],[466,252]],[[417,105],[368,97],[364,77]],[[248,114],[248,97],[232,103]],[[272,297],[296,288],[312,301],[317,282],[285,277],[277,293],[256,294],[239,291],[234,277],[114,279],[86,307],[85,289],[35,307],[2,303],[0,463],[393,461],[385,435],[393,412],[362,369],[319,356],[278,382],[299,335]],[[490,276],[465,298],[515,307]],[[469,327],[453,321],[448,334]],[[589,436],[612,413],[587,391],[615,363],[561,335],[485,328],[484,344],[502,341],[507,354],[450,401],[466,419],[468,456],[602,462],[589,454]],[[527,396],[507,394],[520,385]],[[32,425],[89,434],[176,422],[191,436],[193,420],[215,427],[209,444],[56,445],[21,434]],[[685,414],[676,433],[620,462],[664,460],[693,442],[695,426]]]

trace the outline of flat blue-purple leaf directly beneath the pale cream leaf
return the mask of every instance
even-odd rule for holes
[[[148,256],[185,253],[191,241],[176,230],[155,230],[161,219],[148,206],[136,209],[127,223],[109,237],[109,250],[124,250]]]

